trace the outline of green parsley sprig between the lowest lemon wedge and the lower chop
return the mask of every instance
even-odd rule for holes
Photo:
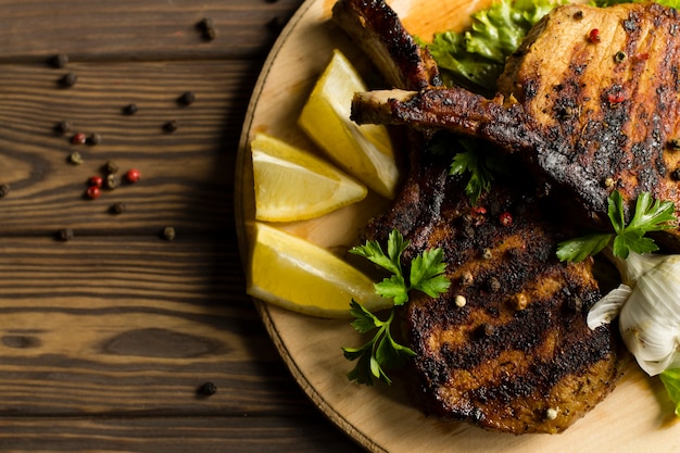
[[[374,264],[388,270],[391,276],[375,285],[376,293],[383,298],[392,299],[394,306],[386,320],[366,310],[361,303],[352,301],[350,313],[355,317],[352,326],[360,334],[368,334],[376,330],[373,339],[361,348],[342,348],[345,358],[357,361],[354,369],[348,373],[350,380],[358,383],[373,385],[374,379],[391,383],[392,380],[387,372],[404,365],[415,352],[408,347],[394,340],[391,332],[395,315],[395,306],[408,302],[408,292],[419,290],[435,298],[445,292],[451,281],[444,275],[446,265],[443,263],[444,253],[441,249],[426,250],[411,262],[408,278],[402,269],[402,253],[410,242],[404,237],[392,230],[388,237],[387,254],[378,241],[368,240],[364,246],[357,246],[350,253],[364,256]]]

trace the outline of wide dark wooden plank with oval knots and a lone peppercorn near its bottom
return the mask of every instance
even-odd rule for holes
[[[0,238],[0,415],[306,411],[234,243]]]

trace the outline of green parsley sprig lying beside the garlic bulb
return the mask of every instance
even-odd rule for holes
[[[675,204],[671,201],[654,200],[648,192],[642,192],[635,202],[635,212],[628,225],[624,199],[618,190],[608,198],[608,217],[614,232],[601,232],[582,236],[561,242],[557,247],[557,257],[561,261],[579,262],[595,255],[605,247],[612,246],[615,256],[628,257],[635,253],[651,253],[658,250],[652,238],[644,235],[651,231],[677,227]]]

